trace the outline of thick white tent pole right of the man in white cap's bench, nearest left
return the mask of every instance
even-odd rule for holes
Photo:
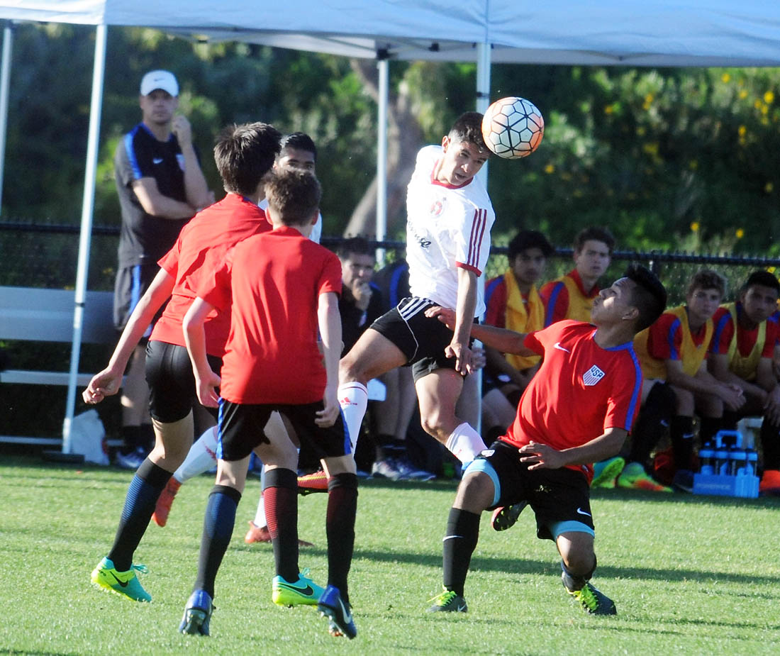
[[[95,58],[92,69],[92,101],[90,105],[90,130],[87,140],[87,170],[84,174],[84,196],[81,206],[81,232],[79,236],[79,261],[76,268],[76,304],[73,308],[73,345],[70,353],[68,400],[66,416],[62,422],[62,452],[70,453],[70,428],[76,406],[76,375],[79,372],[81,332],[83,328],[84,302],[87,297],[87,271],[90,264],[90,240],[92,237],[92,211],[94,209],[95,178],[97,171],[97,147],[100,140],[101,106],[103,103],[103,78],[105,76],[105,44],[108,28],[98,25],[95,31]]]

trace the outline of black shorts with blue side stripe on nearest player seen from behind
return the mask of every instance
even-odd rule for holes
[[[341,413],[331,427],[322,428],[314,423],[317,411],[322,408],[321,401],[289,405],[233,403],[220,399],[217,457],[222,460],[240,460],[249,456],[257,445],[267,442],[263,427],[268,424],[268,417],[274,410],[285,415],[293,424],[302,451],[307,449],[317,459],[349,455],[352,446]]]

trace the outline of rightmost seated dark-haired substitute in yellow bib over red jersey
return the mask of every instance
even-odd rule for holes
[[[740,417],[758,415],[764,473],[759,490],[780,495],[780,385],[772,368],[780,338],[775,312],[780,282],[769,271],[753,271],[736,303],[715,311],[710,361],[718,380],[738,385],[746,398],[739,413],[724,412],[724,427],[736,428]]]

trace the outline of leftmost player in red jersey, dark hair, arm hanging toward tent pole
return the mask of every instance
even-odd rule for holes
[[[278,153],[280,136],[267,123],[225,129],[214,153],[227,195],[183,228],[133,310],[108,367],[95,374],[83,392],[84,401],[97,403],[119,390],[133,349],[154,314],[168,301],[147,346],[146,375],[156,444],[130,482],[112,549],[92,572],[93,583],[134,601],[151,601],[151,596],[137,580],[133,553],[149,525],[155,503],[193,442],[195,380],[184,345],[182,320],[195,298],[193,289],[201,270],[212,268],[239,239],[271,229],[257,201],[263,194],[262,179]],[[229,328],[229,315],[213,313],[208,317],[207,353],[217,370]]]

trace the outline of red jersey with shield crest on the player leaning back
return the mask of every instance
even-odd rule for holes
[[[544,359],[503,441],[561,450],[586,444],[608,428],[631,430],[642,390],[633,342],[602,349],[595,332],[591,324],[564,320],[526,336],[525,346]],[[590,465],[569,469],[593,477]]]

